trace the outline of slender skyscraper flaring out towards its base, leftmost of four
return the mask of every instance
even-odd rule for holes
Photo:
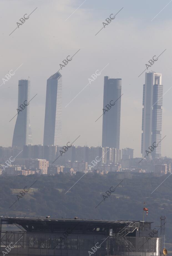
[[[20,110],[20,105],[28,104],[30,100],[30,81],[29,80],[19,80],[18,87],[18,108]],[[14,146],[24,146],[32,144],[32,131],[29,119],[29,106],[25,106],[22,111],[18,111],[16,125],[14,128],[14,134],[12,139],[12,147]]]

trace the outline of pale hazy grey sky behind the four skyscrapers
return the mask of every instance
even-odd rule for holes
[[[68,55],[72,56],[80,49],[72,61],[60,70],[63,81],[63,145],[74,141],[79,135],[81,136],[75,145],[101,145],[102,117],[96,123],[95,120],[102,114],[103,81],[104,76],[109,76],[122,78],[120,148],[134,148],[135,157],[141,157],[145,72],[139,78],[138,75],[154,55],[158,56],[166,49],[148,71],[162,73],[163,93],[172,86],[172,1],[83,2],[84,0],[0,1],[0,84],[11,69],[16,70],[22,64],[15,75],[0,87],[0,145],[12,145],[17,117],[11,122],[9,120],[17,113],[18,80],[28,79],[28,76],[31,81],[30,97],[37,93],[30,103],[33,144],[43,143],[46,81],[60,69],[59,64]],[[115,19],[95,36],[103,27],[105,19],[111,13],[116,14],[122,7]],[[17,27],[16,23],[20,22],[19,19],[26,13],[29,15],[35,8],[37,9],[29,19],[9,36]],[[101,75],[65,108],[88,84],[91,75],[104,67]],[[162,156],[169,157],[172,157],[171,95],[172,88],[163,96],[162,123],[162,137],[166,135],[162,141]]]

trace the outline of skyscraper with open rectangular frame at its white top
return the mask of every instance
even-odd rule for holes
[[[145,76],[143,85],[143,111],[142,111],[142,135],[141,135],[141,153],[143,157],[149,147],[158,144],[161,140],[162,127],[162,103],[163,103],[163,85],[161,84],[162,74],[149,72]],[[154,148],[151,154],[146,158],[161,157],[161,142]]]

